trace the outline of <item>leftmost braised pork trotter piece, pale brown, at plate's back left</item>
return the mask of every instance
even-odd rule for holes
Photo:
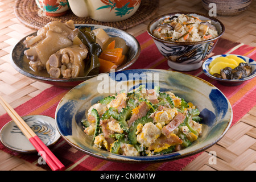
[[[66,23],[49,22],[37,32],[36,36],[28,36],[24,44],[29,49],[24,51],[24,55],[30,60],[32,69],[40,71],[46,68],[49,57],[61,48],[72,46],[72,40],[77,33],[73,20],[69,20]]]

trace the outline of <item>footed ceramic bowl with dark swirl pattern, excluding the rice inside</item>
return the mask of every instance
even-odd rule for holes
[[[199,17],[201,20],[211,20],[218,31],[218,36],[213,39],[198,42],[171,42],[154,36],[153,31],[160,21],[170,16],[179,16],[180,14],[193,15]],[[177,71],[193,71],[199,69],[205,57],[212,52],[218,39],[224,34],[225,27],[220,20],[208,15],[192,12],[175,12],[164,14],[153,19],[148,24],[147,31],[154,40],[159,52],[168,60],[170,68]]]

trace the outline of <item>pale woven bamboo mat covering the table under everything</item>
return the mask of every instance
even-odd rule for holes
[[[10,64],[10,52],[13,46],[24,36],[35,30],[25,26],[15,16],[14,0],[0,0],[0,95],[17,107],[31,100],[51,85],[31,80],[20,75]],[[237,16],[217,16],[225,24],[225,39],[241,42],[256,47],[256,1],[251,3],[249,10]],[[200,0],[160,0],[159,9],[154,16],[174,11],[196,11],[207,13]],[[137,36],[147,30],[150,19],[126,30]],[[0,107],[0,115],[5,114]],[[202,152],[183,170],[256,170],[256,106],[245,114],[236,125],[214,146]],[[209,164],[210,151],[216,151],[217,164]],[[42,170],[18,156],[0,151],[0,170]]]

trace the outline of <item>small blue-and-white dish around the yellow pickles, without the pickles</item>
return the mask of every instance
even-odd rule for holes
[[[221,57],[221,56],[225,57],[225,56],[228,56],[228,55],[231,55],[231,54],[212,56],[209,59],[205,60],[203,65],[202,65],[202,69],[203,69],[204,74],[209,76],[213,80],[217,80],[218,82],[220,82],[220,84],[228,85],[228,86],[240,85],[240,84],[242,84],[242,82],[244,82],[246,80],[250,80],[251,78],[254,78],[256,76],[256,61],[254,61],[253,59],[250,59],[250,57],[241,56],[241,55],[235,55],[235,56],[238,56],[241,59],[245,60],[245,62],[253,69],[253,72],[251,72],[251,75],[249,77],[242,78],[242,79],[239,79],[239,80],[226,80],[226,79],[217,78],[217,77],[214,77],[214,76],[210,75],[210,73],[209,73],[209,64],[210,64],[210,62],[212,62],[214,59],[216,59],[216,57]]]

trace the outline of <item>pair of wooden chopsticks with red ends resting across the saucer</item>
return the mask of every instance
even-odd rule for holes
[[[49,150],[49,148],[40,140],[40,138],[34,133],[33,130],[27,125],[27,123],[19,116],[18,113],[0,96],[0,104],[7,111],[15,124],[19,127],[25,137],[30,140],[30,143],[35,147],[36,151],[42,156],[44,161],[52,169],[52,171],[62,171],[65,166],[59,159]]]

